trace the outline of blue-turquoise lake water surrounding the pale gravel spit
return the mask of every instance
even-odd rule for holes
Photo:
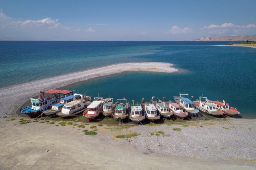
[[[179,92],[222,100],[256,118],[256,49],[228,42],[0,42],[0,87],[121,62],[168,62],[178,73],[125,72],[71,84],[129,102]],[[39,90],[40,91],[40,90]]]

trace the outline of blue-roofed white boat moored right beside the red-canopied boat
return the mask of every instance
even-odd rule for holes
[[[80,91],[78,91],[78,94],[79,93],[80,93]],[[91,99],[91,96],[86,96],[86,94],[87,94],[87,92],[83,96],[83,99],[84,99],[83,103],[85,103]],[[75,98],[80,99],[81,96],[76,95]],[[51,109],[45,110],[42,113],[44,113],[48,117],[52,117],[52,116],[56,115],[56,113],[61,112],[61,109],[63,108],[64,104],[69,103],[73,100],[74,100],[74,95],[70,95],[68,97],[63,97],[63,98],[61,98],[61,101],[59,103],[52,105]]]

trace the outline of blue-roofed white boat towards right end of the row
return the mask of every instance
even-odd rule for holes
[[[188,94],[180,94],[180,96],[173,96],[173,98],[177,104],[180,104],[184,107],[189,115],[196,117],[199,116],[199,110],[195,108],[194,102],[191,101],[193,99],[193,96],[191,96],[191,99],[189,99]]]

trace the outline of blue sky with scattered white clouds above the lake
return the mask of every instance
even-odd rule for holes
[[[190,40],[256,34],[256,0],[0,0],[0,38]]]

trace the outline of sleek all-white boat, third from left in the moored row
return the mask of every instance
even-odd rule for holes
[[[77,98],[77,96],[80,96]],[[77,115],[82,113],[86,109],[86,105],[84,104],[85,99],[83,99],[83,95],[74,94],[73,101],[64,104],[61,112],[56,113],[59,117],[69,117],[73,115]]]

